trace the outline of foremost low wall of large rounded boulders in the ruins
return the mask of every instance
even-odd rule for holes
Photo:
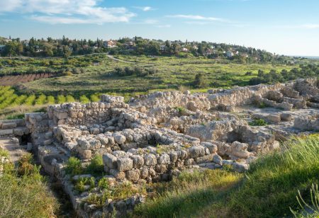
[[[189,168],[194,164],[211,163],[216,156],[217,146],[203,142],[186,149],[177,144],[145,149],[113,151],[103,155],[106,173],[118,180],[157,182],[169,180],[176,170]]]

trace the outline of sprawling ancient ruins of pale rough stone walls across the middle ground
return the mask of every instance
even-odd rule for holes
[[[110,183],[168,181],[189,168],[225,165],[243,172],[290,135],[319,131],[318,87],[317,79],[298,79],[207,93],[157,91],[128,103],[104,95],[100,102],[50,105],[47,113],[2,120],[0,135],[18,138],[38,155],[80,216],[102,217],[114,210],[121,216],[145,196],[109,199],[103,208],[90,205],[85,199],[91,193],[74,192],[71,182],[90,175],[70,178],[65,173],[70,156],[85,164],[102,155]],[[258,126],[260,120],[267,125]]]

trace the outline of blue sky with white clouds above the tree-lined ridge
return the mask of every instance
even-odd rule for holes
[[[0,35],[207,40],[319,56],[318,0],[0,0]]]

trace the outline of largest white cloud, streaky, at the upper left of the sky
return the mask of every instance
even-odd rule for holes
[[[2,0],[1,0],[2,1]],[[0,12],[32,14],[45,23],[128,22],[135,16],[126,8],[98,6],[99,0],[10,0],[0,2]]]

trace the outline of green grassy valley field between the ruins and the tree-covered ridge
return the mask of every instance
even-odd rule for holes
[[[62,76],[58,78],[40,79],[24,84],[32,91],[67,91],[73,93],[86,92],[141,92],[154,89],[177,88],[180,85],[189,86],[194,81],[195,75],[206,75],[209,86],[228,87],[246,85],[252,76],[245,76],[247,71],[257,74],[258,69],[270,71],[276,69],[291,69],[291,66],[272,64],[217,64],[212,59],[198,57],[131,57],[119,56],[120,59],[134,62],[115,62],[108,57],[101,61],[99,66],[86,67],[84,74]],[[138,65],[140,67],[155,67],[159,72],[152,76],[108,76],[115,67]]]

